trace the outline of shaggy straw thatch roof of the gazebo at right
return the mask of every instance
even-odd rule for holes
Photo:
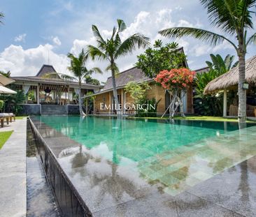
[[[256,56],[246,61],[246,82],[256,83]],[[232,68],[229,72],[220,75],[206,85],[204,93],[213,93],[223,89],[231,89],[239,83],[239,66]]]

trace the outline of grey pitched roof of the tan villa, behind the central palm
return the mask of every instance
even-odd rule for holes
[[[128,82],[145,82],[152,80],[150,77],[144,75],[141,69],[133,67],[123,71],[115,76],[116,87],[124,87]],[[106,84],[102,91],[112,89],[112,77],[108,77]]]

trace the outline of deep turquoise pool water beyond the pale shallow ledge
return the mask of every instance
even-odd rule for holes
[[[113,117],[42,116],[38,119],[88,149],[97,149],[97,154],[113,163],[120,163],[122,157],[139,162],[239,129],[237,123],[212,121],[175,121],[170,124],[169,121]]]

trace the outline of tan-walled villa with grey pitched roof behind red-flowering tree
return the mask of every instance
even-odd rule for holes
[[[179,50],[180,52],[184,53],[183,47],[181,47]],[[183,65],[187,68],[187,61],[185,61]],[[207,70],[208,68],[206,67],[196,70],[196,72],[202,73]],[[136,82],[138,84],[147,82],[150,85],[150,89],[145,93],[145,98],[149,100],[152,98],[155,98],[156,101],[159,100],[159,104],[157,105],[158,115],[164,114],[167,107],[170,105],[170,93],[164,90],[161,86],[157,85],[154,79],[145,76],[145,74],[139,68],[133,67],[129,68],[128,70],[124,70],[115,77],[115,82],[118,90],[118,102],[120,103],[122,114],[134,114],[135,112],[132,107],[134,99],[131,98],[130,93],[125,91],[125,86],[129,82]],[[97,93],[91,94],[90,96],[85,96],[84,98],[89,98],[91,96],[94,96],[94,114],[115,114],[114,107],[109,107],[109,105],[115,104],[113,100],[112,77],[108,77],[103,89]],[[183,101],[183,112],[193,114],[193,87],[191,85],[190,87],[187,87],[187,91],[181,100]]]

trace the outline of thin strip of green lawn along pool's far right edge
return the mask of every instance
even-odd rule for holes
[[[129,119],[161,119],[161,117],[128,117]],[[169,117],[163,117],[162,119],[169,119]],[[237,122],[237,118],[224,118],[213,116],[187,116],[187,117],[174,117],[174,120],[187,120],[187,121],[229,121]],[[256,121],[248,120],[248,123],[255,123]]]

